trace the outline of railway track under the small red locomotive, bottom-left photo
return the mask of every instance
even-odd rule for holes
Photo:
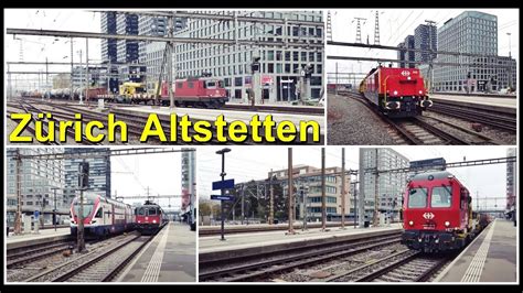
[[[108,282],[153,238],[129,234],[110,238],[79,257],[24,282]]]

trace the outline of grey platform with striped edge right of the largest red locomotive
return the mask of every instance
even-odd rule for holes
[[[513,221],[495,219],[434,282],[519,282],[516,231]]]

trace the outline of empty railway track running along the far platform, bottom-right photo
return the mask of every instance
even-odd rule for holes
[[[270,275],[308,267],[325,261],[352,256],[380,247],[399,243],[399,234],[387,237],[370,237],[357,241],[342,242],[331,246],[318,245],[309,248],[300,248],[295,251],[277,251],[271,253],[259,253],[256,258],[234,259],[223,267],[210,265],[210,262],[200,261],[199,280],[202,282],[246,282],[266,280]],[[323,247],[322,247],[323,246]]]

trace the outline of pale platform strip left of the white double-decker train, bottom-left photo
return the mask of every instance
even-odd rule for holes
[[[4,240],[9,250],[68,238],[71,238],[70,228],[57,228],[56,231],[54,229],[41,229],[39,234],[14,235],[10,232],[9,237],[4,238]]]

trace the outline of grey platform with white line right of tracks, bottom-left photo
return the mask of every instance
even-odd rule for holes
[[[116,282],[195,282],[196,234],[170,221],[129,263]]]

